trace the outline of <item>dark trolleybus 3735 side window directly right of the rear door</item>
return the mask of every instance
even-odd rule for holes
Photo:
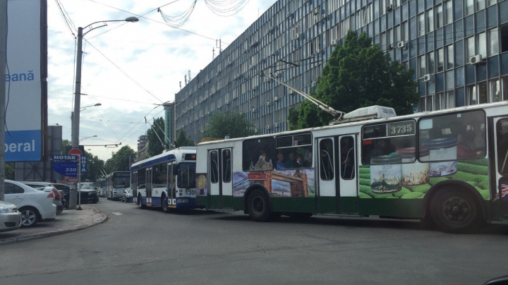
[[[272,137],[244,140],[242,151],[243,171],[270,171],[277,162],[275,139]]]

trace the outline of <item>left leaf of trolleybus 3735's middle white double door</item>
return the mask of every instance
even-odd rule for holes
[[[320,212],[338,212],[339,196],[337,195],[337,179],[335,167],[335,142],[337,138],[317,139],[317,171],[318,209]]]

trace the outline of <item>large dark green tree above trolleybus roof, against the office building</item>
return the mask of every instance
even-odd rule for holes
[[[357,35],[349,30],[344,44],[332,52],[310,95],[346,113],[381,105],[394,108],[397,115],[412,114],[420,99],[413,72],[392,61],[365,32]],[[325,126],[331,119],[308,100],[290,109],[288,116],[291,130]]]

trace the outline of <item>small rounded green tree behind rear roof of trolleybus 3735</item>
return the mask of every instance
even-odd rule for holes
[[[243,114],[215,112],[203,130],[203,138],[242,138],[255,135],[255,127]]]

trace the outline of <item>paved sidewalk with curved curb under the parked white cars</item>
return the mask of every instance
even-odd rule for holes
[[[90,226],[100,224],[107,219],[107,215],[102,214],[92,205],[81,205],[82,211],[63,210],[61,214],[56,215],[54,221],[38,222],[35,227],[30,229],[17,229],[0,233],[0,245],[3,243],[13,243],[16,241],[29,241],[35,238],[45,238],[47,236],[57,236],[86,229]]]

